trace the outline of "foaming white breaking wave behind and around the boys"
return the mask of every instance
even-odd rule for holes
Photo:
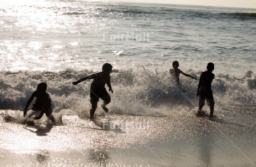
[[[181,85],[178,86],[172,82],[169,72],[147,69],[113,71],[111,83],[114,94],[110,93],[111,103],[108,105],[112,113],[168,115],[174,108],[189,111],[198,107],[196,80],[181,75]],[[91,107],[91,80],[76,86],[72,82],[92,73],[95,72],[73,69],[61,72],[1,72],[0,109],[22,110],[32,92],[36,90],[37,84],[47,82],[47,92],[51,95],[55,113],[61,110],[84,113]],[[199,79],[200,72],[190,70],[186,73]],[[241,77],[215,74],[212,89],[218,106],[249,107],[256,103],[256,77],[250,70]]]

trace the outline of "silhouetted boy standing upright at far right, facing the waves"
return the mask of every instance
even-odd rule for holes
[[[204,106],[205,99],[207,100],[207,104],[210,105],[210,118],[213,117],[213,110],[214,110],[214,99],[213,99],[213,90],[211,90],[211,82],[215,75],[211,72],[214,70],[214,64],[208,63],[207,70],[202,72],[200,75],[200,80],[198,84],[198,93],[196,96],[199,96],[199,108],[198,108],[198,115],[201,115],[201,109]]]

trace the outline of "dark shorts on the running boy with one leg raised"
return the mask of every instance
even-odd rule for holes
[[[110,102],[110,95],[107,93],[106,89],[101,90],[90,90],[90,98],[91,103],[97,103],[99,102],[99,99],[101,98],[104,100],[104,102]]]

